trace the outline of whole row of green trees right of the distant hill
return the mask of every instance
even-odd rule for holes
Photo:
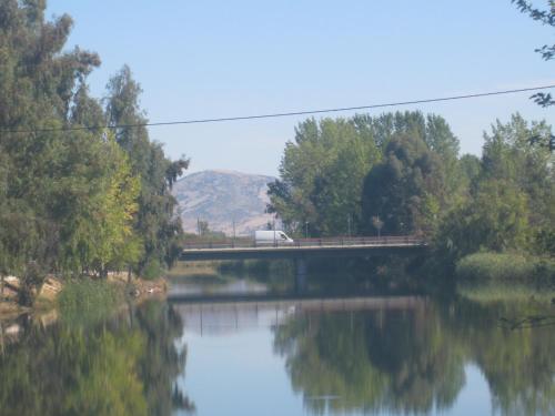
[[[270,207],[304,235],[418,234],[454,265],[478,251],[553,255],[554,156],[545,122],[514,114],[458,156],[447,122],[420,112],[309,119],[285,146]],[[352,222],[351,222],[352,220]]]

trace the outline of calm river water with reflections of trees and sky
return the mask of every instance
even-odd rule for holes
[[[0,414],[555,415],[555,326],[507,327],[555,314],[534,301],[173,290],[204,300],[3,324]]]

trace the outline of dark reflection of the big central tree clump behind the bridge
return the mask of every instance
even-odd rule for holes
[[[464,385],[461,352],[441,329],[426,311],[310,313],[278,327],[274,346],[314,412],[426,412]]]

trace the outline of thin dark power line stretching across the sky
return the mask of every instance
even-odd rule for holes
[[[441,101],[467,100],[467,99],[476,99],[476,98],[482,98],[482,97],[506,95],[506,94],[515,94],[515,93],[519,93],[519,92],[548,90],[548,89],[553,89],[553,88],[555,88],[555,84],[543,85],[543,87],[521,88],[521,89],[514,89],[514,90],[480,92],[480,93],[475,93],[475,94],[452,95],[452,97],[421,99],[421,100],[411,100],[411,101],[397,101],[397,102],[381,103],[381,104],[342,106],[342,108],[335,108],[335,109],[302,110],[302,111],[291,111],[291,112],[282,112],[282,113],[239,115],[239,116],[224,116],[224,118],[181,120],[181,121],[165,121],[165,122],[154,122],[154,123],[69,126],[69,128],[57,128],[57,129],[0,130],[0,133],[43,133],[43,132],[80,131],[80,130],[97,130],[97,129],[132,129],[132,128],[141,128],[141,126],[202,124],[202,123],[220,123],[220,122],[226,122],[226,121],[241,121],[241,120],[276,119],[276,118],[293,116],[293,115],[311,115],[311,114],[335,113],[335,112],[342,112],[342,111],[372,110],[372,109],[383,109],[383,108],[389,108],[389,106],[425,104],[425,103],[441,102]]]

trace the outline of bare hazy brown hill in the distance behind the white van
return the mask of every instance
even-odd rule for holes
[[[272,215],[265,214],[268,183],[275,177],[234,171],[192,173],[173,185],[183,229],[196,232],[196,220],[208,221],[210,230],[248,235],[265,229]]]

